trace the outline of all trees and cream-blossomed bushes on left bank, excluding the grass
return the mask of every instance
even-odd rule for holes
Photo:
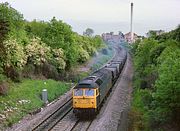
[[[48,76],[43,73],[44,69],[65,72],[86,62],[103,47],[100,36],[81,36],[55,17],[46,22],[29,22],[7,2],[0,3],[0,11],[0,74],[7,77],[28,77],[36,72],[49,78],[54,75],[49,73]],[[29,67],[33,70],[30,71]]]

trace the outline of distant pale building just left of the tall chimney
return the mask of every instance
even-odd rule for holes
[[[103,33],[102,39],[111,43],[120,43],[124,41],[124,34],[119,31],[119,34],[114,35],[114,32]]]

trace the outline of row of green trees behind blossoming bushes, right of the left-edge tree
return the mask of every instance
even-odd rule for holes
[[[85,62],[89,55],[93,55],[96,49],[103,45],[101,37],[80,36],[74,33],[68,24],[57,20],[55,17],[50,22],[36,20],[27,22],[26,31],[31,37],[40,37],[44,43],[53,49],[63,49],[66,58],[64,59],[66,69],[71,68],[78,62]]]

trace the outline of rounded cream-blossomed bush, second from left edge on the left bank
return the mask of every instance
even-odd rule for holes
[[[25,47],[28,63],[40,65],[50,59],[50,47],[43,43],[39,38],[33,38]]]

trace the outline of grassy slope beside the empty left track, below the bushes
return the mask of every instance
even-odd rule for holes
[[[26,114],[41,108],[42,89],[47,89],[48,101],[51,102],[70,88],[69,84],[63,82],[30,79],[11,83],[10,86],[8,95],[0,96],[0,127],[11,126]]]

